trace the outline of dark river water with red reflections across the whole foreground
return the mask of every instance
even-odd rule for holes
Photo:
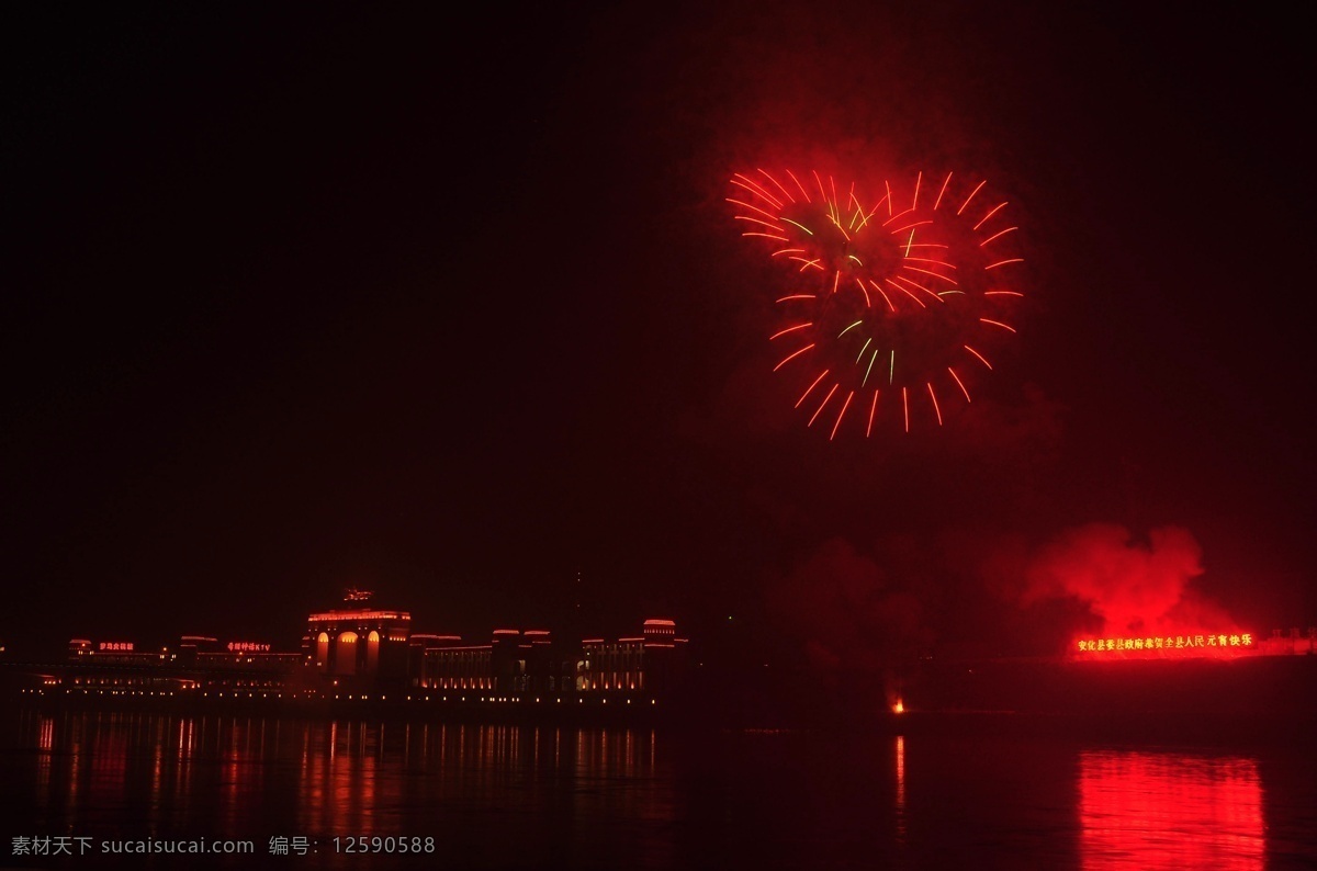
[[[1317,867],[1303,742],[17,708],[0,776],[4,868]]]

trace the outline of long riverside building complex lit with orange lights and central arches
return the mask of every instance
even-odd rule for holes
[[[647,620],[639,637],[570,642],[548,629],[495,629],[487,643],[412,632],[411,614],[373,607],[349,591],[342,607],[307,617],[302,650],[270,642],[182,635],[174,647],[133,641],[68,642],[65,663],[33,667],[42,687],[79,696],[290,697],[366,700],[420,693],[500,701],[627,696],[656,701],[676,689],[686,639],[670,620]]]

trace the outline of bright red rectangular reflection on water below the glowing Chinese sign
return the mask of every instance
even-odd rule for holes
[[[1180,753],[1080,754],[1083,867],[1262,868],[1254,760]]]

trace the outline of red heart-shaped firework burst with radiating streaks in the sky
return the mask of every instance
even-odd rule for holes
[[[865,437],[876,420],[943,424],[992,370],[989,355],[1015,333],[1010,280],[1022,262],[1006,203],[985,182],[948,172],[936,184],[861,192],[818,172],[782,170],[731,179],[743,236],[763,241],[786,279],[774,372],[789,379],[807,426],[836,438],[843,421]]]

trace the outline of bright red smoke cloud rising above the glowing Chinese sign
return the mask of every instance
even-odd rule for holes
[[[1105,634],[1148,634],[1229,628],[1233,620],[1193,588],[1202,549],[1179,526],[1152,529],[1135,541],[1115,524],[1088,524],[1044,545],[1025,568],[1022,604],[1072,599]]]

